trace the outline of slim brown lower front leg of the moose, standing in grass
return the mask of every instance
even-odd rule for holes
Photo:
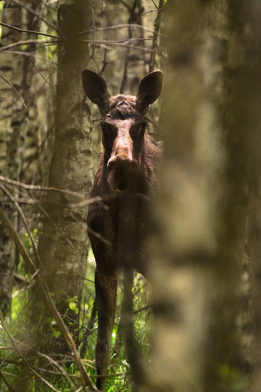
[[[95,291],[98,308],[98,335],[95,347],[96,387],[103,391],[105,389],[107,369],[111,362],[111,338],[117,296],[116,268],[108,270],[100,266],[96,267]]]

